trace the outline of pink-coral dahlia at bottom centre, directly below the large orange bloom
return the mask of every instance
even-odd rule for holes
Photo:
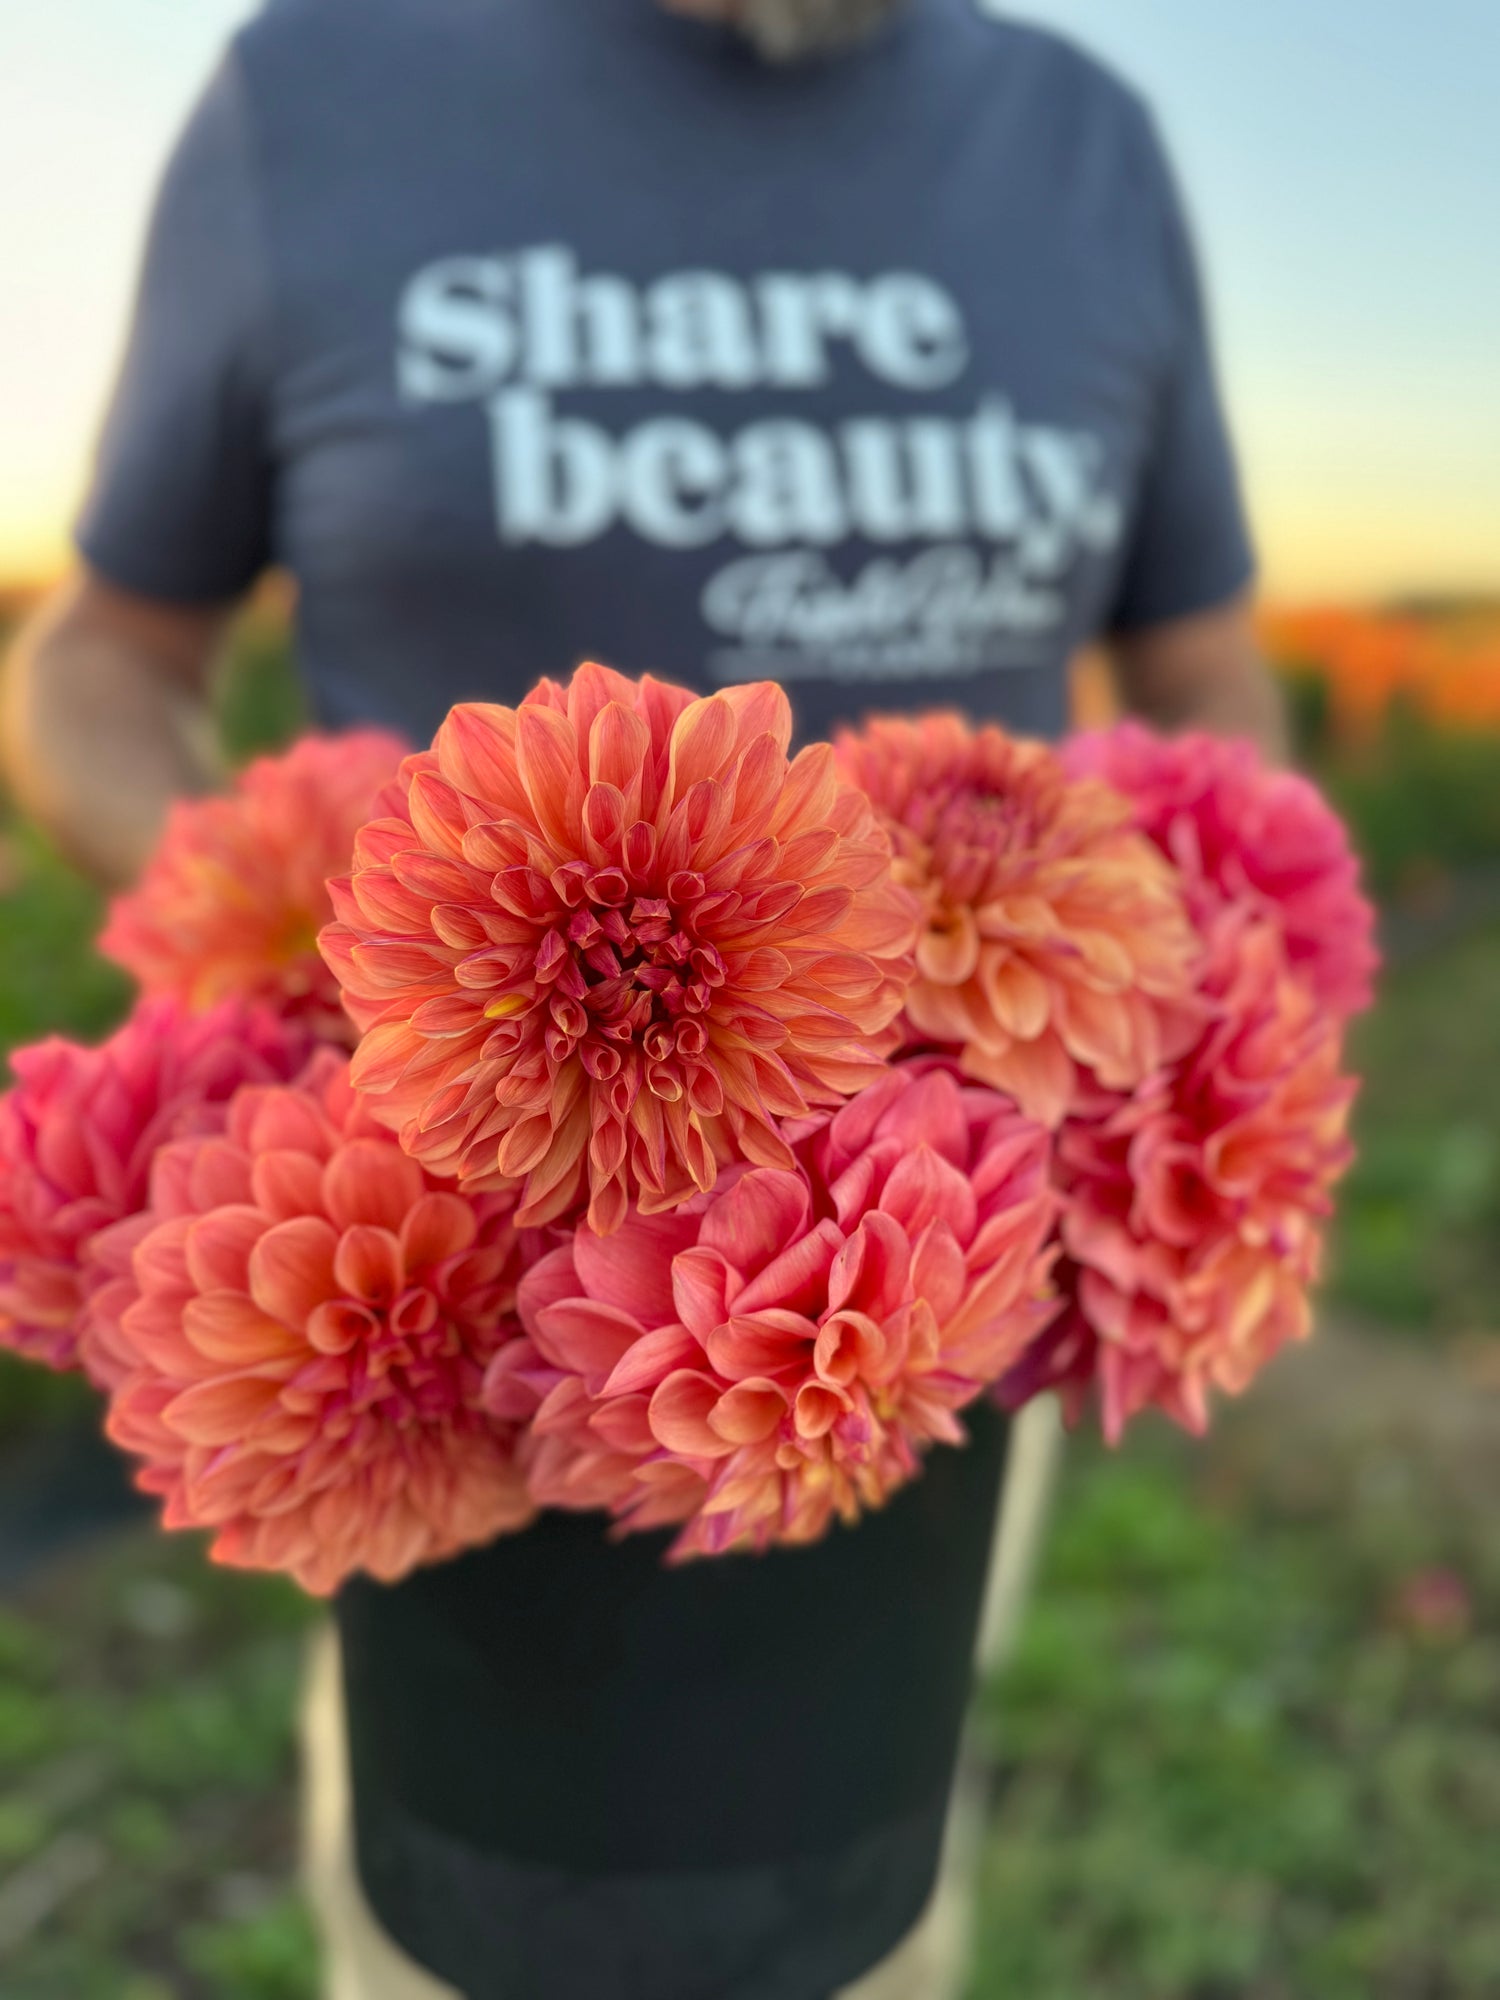
[[[522,1280],[486,1402],[538,1502],[680,1522],[678,1556],[878,1508],[1052,1312],[1050,1142],[946,1066],[888,1070],[672,1214],[580,1224]]]

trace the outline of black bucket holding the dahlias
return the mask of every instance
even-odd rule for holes
[[[338,1604],[356,1850],[468,2000],[826,2000],[930,1894],[1008,1424],[880,1514],[668,1568],[598,1516]]]

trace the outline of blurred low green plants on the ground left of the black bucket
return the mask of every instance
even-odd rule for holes
[[[148,1534],[0,1612],[0,1876],[54,1898],[6,2000],[314,2000],[288,1890],[308,1618]]]

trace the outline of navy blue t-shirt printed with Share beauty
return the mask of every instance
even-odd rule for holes
[[[274,0],[168,168],[88,562],[300,586],[324,722],[580,658],[1064,722],[1250,550],[1150,116],[910,0],[770,66],[652,0]]]

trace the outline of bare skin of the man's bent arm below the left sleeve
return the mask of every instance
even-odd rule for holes
[[[108,886],[140,870],[172,798],[220,782],[208,674],[226,618],[132,596],[84,568],[6,660],[6,784]]]

